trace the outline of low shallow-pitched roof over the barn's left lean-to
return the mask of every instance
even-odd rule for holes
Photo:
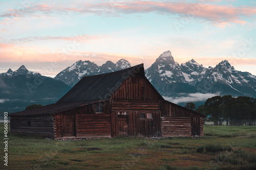
[[[83,101],[83,102],[71,102],[71,103],[55,103],[51,105],[41,106],[34,109],[24,110],[16,113],[9,114],[10,116],[27,116],[27,115],[42,115],[42,114],[54,114],[61,111],[69,110],[72,108],[89,105],[104,100],[97,101]]]

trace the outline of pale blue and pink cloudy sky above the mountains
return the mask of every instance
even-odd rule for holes
[[[167,50],[179,64],[228,60],[256,75],[256,2],[0,2],[0,72],[25,65],[54,77],[78,60],[122,58],[147,68]]]

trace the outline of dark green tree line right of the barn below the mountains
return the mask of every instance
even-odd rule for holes
[[[194,105],[187,103],[185,107],[195,109]],[[233,126],[252,126],[256,122],[256,99],[248,96],[233,98],[231,95],[217,95],[195,110],[207,115],[206,121],[214,122],[214,125],[222,125],[225,120],[226,125]]]

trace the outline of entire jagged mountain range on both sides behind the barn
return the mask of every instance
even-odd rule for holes
[[[55,78],[29,71],[24,65],[16,71],[9,69],[0,74],[0,106],[7,110],[16,108],[12,111],[19,111],[31,104],[54,103],[83,76],[128,67],[131,67],[131,64],[125,59],[117,63],[107,61],[101,66],[89,60],[79,60],[60,71]],[[145,76],[165,99],[180,105],[194,102],[191,98],[201,100],[202,104],[208,96],[217,94],[256,98],[256,76],[234,69],[227,60],[208,68],[198,64],[194,59],[180,65],[175,62],[172,53],[166,51],[145,69]]]

